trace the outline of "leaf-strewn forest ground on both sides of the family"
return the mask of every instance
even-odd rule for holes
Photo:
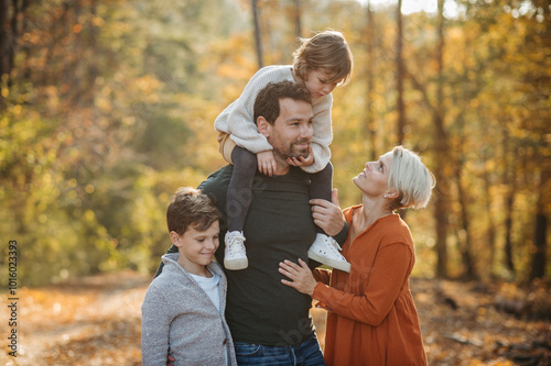
[[[20,289],[17,357],[8,354],[2,293],[0,365],[141,365],[140,306],[149,281],[125,271]],[[411,288],[430,365],[551,365],[548,288],[429,279],[412,279]],[[313,317],[323,341],[325,312],[315,309]]]

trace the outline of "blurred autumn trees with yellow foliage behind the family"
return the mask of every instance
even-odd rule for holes
[[[381,3],[1,1],[1,247],[18,241],[23,285],[151,273],[170,196],[225,164],[216,115],[260,63],[291,64],[298,36],[329,27],[355,57],[334,91],[342,206],[363,164],[403,143],[437,178],[406,215],[418,276],[549,279],[549,4]]]

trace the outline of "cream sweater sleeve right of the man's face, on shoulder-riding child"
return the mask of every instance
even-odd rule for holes
[[[329,144],[333,141],[331,109],[333,96],[329,93],[313,104],[314,112],[314,136],[312,137],[312,152],[314,163],[302,167],[306,173],[316,173],[325,168],[331,159]]]

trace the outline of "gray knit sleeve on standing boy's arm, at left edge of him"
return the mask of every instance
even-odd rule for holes
[[[141,325],[141,352],[143,366],[166,365],[169,355],[169,332],[172,315],[162,291],[150,286],[145,292]]]

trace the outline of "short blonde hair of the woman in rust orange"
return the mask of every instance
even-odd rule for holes
[[[435,184],[434,175],[424,166],[417,153],[403,146],[396,146],[392,149],[388,185],[399,193],[390,204],[392,211],[403,208],[424,208],[431,199]]]

